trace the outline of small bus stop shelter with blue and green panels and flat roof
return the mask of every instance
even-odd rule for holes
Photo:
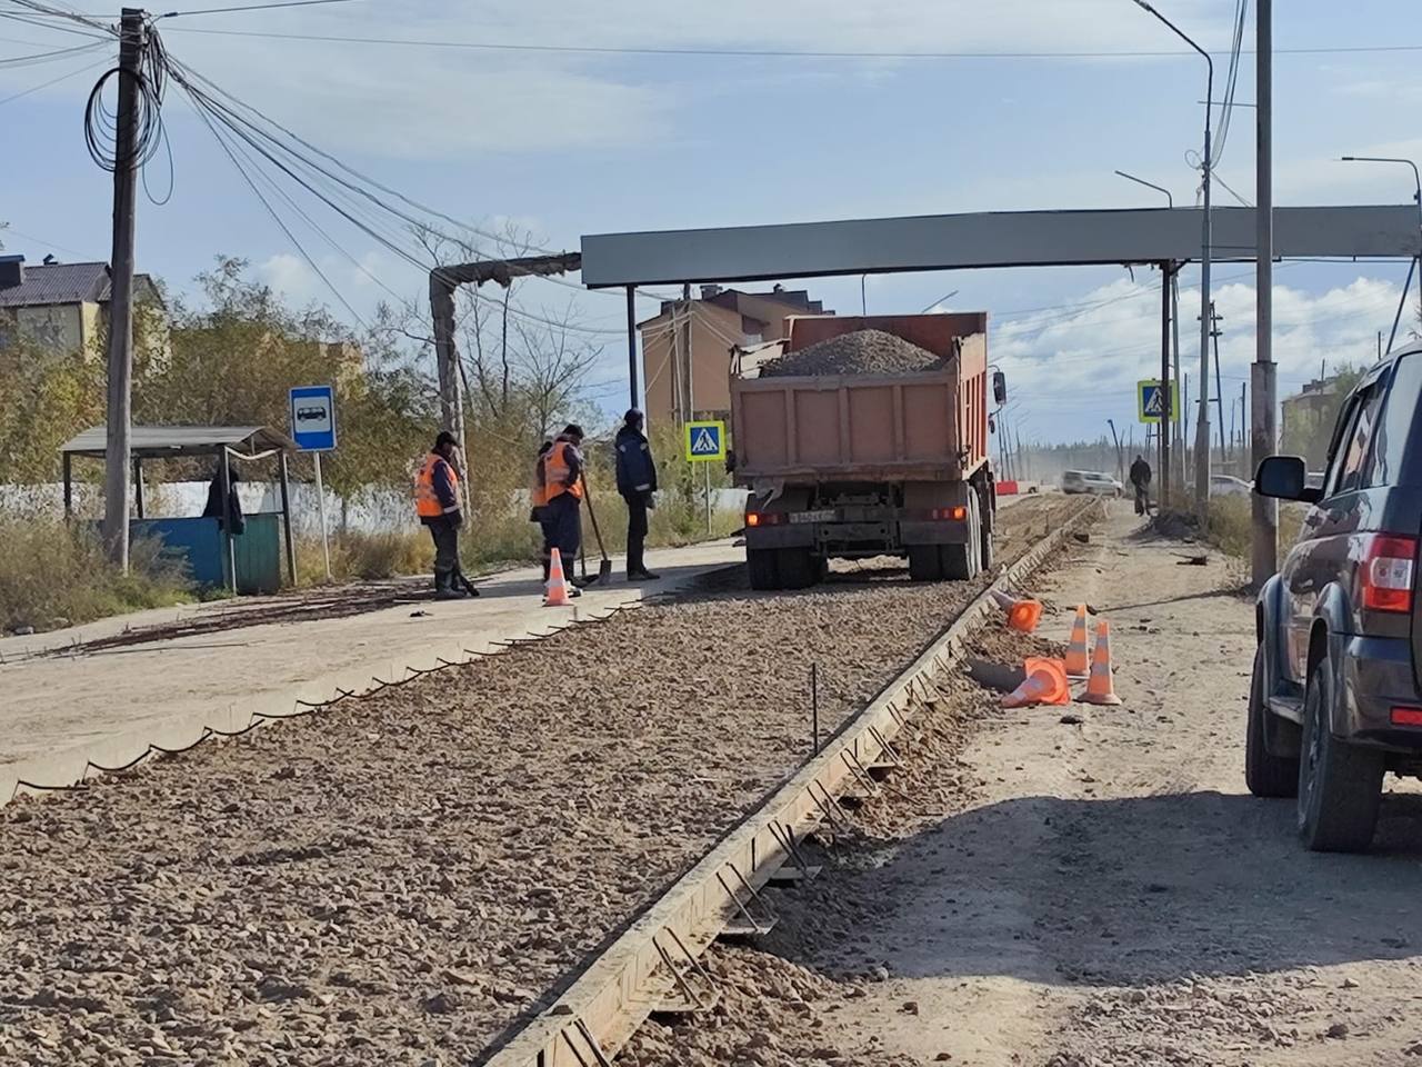
[[[131,455],[134,462],[134,525],[135,534],[158,536],[165,551],[188,558],[193,579],[206,585],[226,585],[232,592],[274,592],[272,576],[280,579],[279,549],[276,546],[276,516],[272,525],[256,524],[252,541],[246,534],[235,538],[230,524],[201,516],[151,518],[144,499],[144,461],[213,457],[222,471],[222,514],[229,515],[228,494],[233,462],[277,460],[282,494],[282,539],[286,542],[286,569],[296,582],[296,542],[292,538],[292,488],[287,458],[296,452],[296,442],[280,430],[260,425],[135,425]],[[74,514],[74,457],[104,460],[107,430],[90,427],[67,441],[60,454],[64,461],[64,515]],[[263,516],[256,515],[253,519]],[[239,555],[237,542],[242,541]]]

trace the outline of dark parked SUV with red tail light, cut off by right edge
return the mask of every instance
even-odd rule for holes
[[[1422,346],[1344,400],[1322,485],[1304,461],[1260,464],[1254,491],[1311,505],[1260,590],[1246,778],[1297,797],[1317,851],[1368,848],[1388,771],[1422,777]]]

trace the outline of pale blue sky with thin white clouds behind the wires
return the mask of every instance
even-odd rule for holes
[[[1158,3],[1214,54],[1216,97],[1236,3]],[[0,16],[21,11],[0,0]],[[107,259],[111,178],[88,156],[82,112],[109,50],[6,65],[87,43],[57,28],[71,23],[38,21],[0,17],[0,222],[10,223],[0,240],[31,262]],[[348,0],[156,24],[173,57],[363,174],[471,226],[512,223],[546,248],[616,230],[1165,202],[1115,169],[1169,188],[1177,205],[1194,203],[1199,185],[1190,154],[1203,137],[1204,63],[1132,0],[722,0],[675,17],[631,0]],[[1246,47],[1253,33],[1250,17]],[[1276,202],[1409,201],[1406,168],[1337,158],[1422,159],[1415,0],[1288,0],[1276,4],[1274,41]],[[738,50],[775,54],[725,54]],[[1246,54],[1236,101],[1253,100]],[[1237,107],[1231,118],[1216,175],[1253,199],[1254,112]],[[158,206],[139,195],[139,269],[185,292],[216,255],[242,256],[293,302],[323,302],[348,322],[392,292],[422,300],[421,270],[313,212],[348,259],[294,232],[337,300],[181,91],[169,90],[164,121],[172,196]],[[165,154],[146,178],[162,199]],[[1216,202],[1236,201],[1217,184]],[[1372,361],[1405,276],[1406,263],[1280,265],[1281,393],[1320,368]],[[842,313],[860,307],[857,277],[793,285]],[[1024,442],[1052,442],[1095,438],[1108,418],[1135,421],[1135,381],[1159,367],[1158,286],[1139,267],[939,272],[872,276],[863,300],[870,313],[985,310]],[[1412,292],[1415,309],[1416,283]],[[1251,266],[1221,265],[1214,297],[1227,425],[1254,354]],[[606,331],[589,334],[607,346],[596,387],[609,410],[621,404],[620,296],[530,283],[522,299],[535,313],[572,300],[583,327]],[[1192,398],[1197,314],[1187,267]],[[1415,329],[1415,310],[1404,322]]]

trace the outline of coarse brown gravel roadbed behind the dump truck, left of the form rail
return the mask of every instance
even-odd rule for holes
[[[798,765],[812,662],[832,728],[981,585],[705,592],[0,809],[0,1063],[468,1063]]]

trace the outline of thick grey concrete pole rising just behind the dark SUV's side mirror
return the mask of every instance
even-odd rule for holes
[[[1254,9],[1256,57],[1256,155],[1254,155],[1254,363],[1250,367],[1250,465],[1258,465],[1278,447],[1278,371],[1274,366],[1274,4],[1258,0]],[[1278,502],[1250,494],[1254,509],[1251,578],[1258,589],[1278,570]]]

